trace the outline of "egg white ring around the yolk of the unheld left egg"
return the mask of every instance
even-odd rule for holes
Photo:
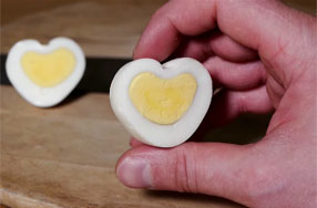
[[[33,83],[22,69],[22,55],[25,52],[50,53],[60,48],[65,48],[73,53],[75,58],[73,72],[63,82],[52,87],[41,87]],[[37,40],[22,40],[9,51],[6,67],[10,82],[23,98],[34,106],[50,107],[63,101],[80,82],[85,69],[85,59],[82,49],[68,38],[52,39],[48,45],[42,45]]]

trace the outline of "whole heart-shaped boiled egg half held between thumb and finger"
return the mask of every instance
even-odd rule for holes
[[[188,139],[203,121],[213,94],[212,79],[196,60],[163,65],[140,59],[122,66],[110,87],[111,106],[141,142],[173,147]]]

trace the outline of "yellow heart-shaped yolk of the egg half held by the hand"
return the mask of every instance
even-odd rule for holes
[[[136,110],[157,124],[177,122],[191,106],[197,89],[196,80],[188,73],[165,80],[145,72],[136,75],[129,89]]]

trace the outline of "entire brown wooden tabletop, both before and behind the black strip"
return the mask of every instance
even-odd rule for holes
[[[65,35],[78,41],[88,56],[131,58],[151,14],[165,1],[1,0],[0,52],[6,54],[21,39],[44,43]],[[287,2],[316,11],[315,0]],[[0,90],[0,204],[11,208],[242,207],[215,197],[135,190],[120,184],[114,166],[129,148],[129,134],[114,117],[106,94],[71,96],[42,110],[29,105],[11,86]],[[247,122],[238,121],[236,129],[260,123]],[[260,137],[266,122],[262,125],[252,128],[254,134],[233,134]],[[224,142],[224,132],[232,131],[215,131],[212,137]]]

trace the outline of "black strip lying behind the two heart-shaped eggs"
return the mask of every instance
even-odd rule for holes
[[[7,55],[1,54],[1,84],[10,85],[11,83],[6,73],[6,60]],[[109,93],[114,74],[130,61],[127,59],[86,58],[85,73],[75,91]]]

